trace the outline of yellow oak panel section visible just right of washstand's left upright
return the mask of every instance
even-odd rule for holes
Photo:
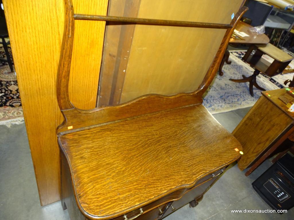
[[[75,13],[106,15],[108,0],[73,0],[73,5]],[[77,108],[93,109],[96,107],[105,21],[76,21],[75,29],[69,97]]]

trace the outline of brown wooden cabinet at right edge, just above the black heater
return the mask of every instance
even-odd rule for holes
[[[290,88],[293,89],[294,88]],[[243,147],[238,161],[240,170],[251,167],[245,175],[256,169],[278,146],[294,132],[294,114],[279,99],[286,89],[262,92],[262,96],[233,131]]]

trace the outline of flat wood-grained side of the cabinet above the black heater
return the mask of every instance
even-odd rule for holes
[[[239,169],[247,168],[292,121],[267,98],[260,97],[232,132],[243,147]]]

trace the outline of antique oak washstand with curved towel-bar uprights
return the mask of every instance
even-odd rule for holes
[[[203,194],[242,150],[240,143],[202,105],[233,30],[230,24],[74,14],[65,0],[66,21],[57,76],[64,122],[61,196],[71,219],[162,219]],[[171,96],[149,94],[118,106],[81,110],[69,100],[74,19],[226,29],[198,89]],[[91,22],[91,21],[89,21]]]

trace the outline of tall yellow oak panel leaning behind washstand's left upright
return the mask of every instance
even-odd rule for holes
[[[74,0],[76,13],[106,14],[106,0]],[[60,199],[56,127],[62,116],[56,74],[64,30],[64,5],[57,0],[4,0],[26,129],[42,205]],[[70,97],[82,109],[95,107],[104,22],[77,21]]]

